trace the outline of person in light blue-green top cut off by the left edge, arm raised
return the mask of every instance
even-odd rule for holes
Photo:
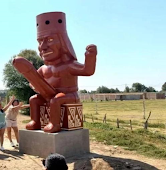
[[[10,102],[2,108],[2,104],[0,103],[0,150],[3,151],[3,141],[4,141],[4,133],[6,128],[6,121],[5,121],[5,111],[9,108],[12,102],[15,100],[15,96],[12,96]]]

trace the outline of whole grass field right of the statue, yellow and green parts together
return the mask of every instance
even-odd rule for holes
[[[143,100],[83,102],[83,109],[84,127],[90,130],[91,139],[166,159],[166,100],[145,100],[146,118],[151,111],[148,130],[143,128]],[[101,123],[105,114],[107,123]],[[120,128],[116,128],[117,118]],[[132,131],[129,120],[132,120]]]

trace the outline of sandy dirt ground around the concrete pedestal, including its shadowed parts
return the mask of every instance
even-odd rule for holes
[[[26,116],[18,116],[20,129],[25,126],[22,121],[27,119],[29,118]],[[0,151],[0,170],[41,170],[43,168],[42,158],[19,153],[18,148],[12,148],[9,145],[6,134],[4,147],[6,150]],[[69,170],[166,170],[166,160],[147,158],[119,146],[107,146],[91,141],[90,149],[90,154],[67,159]]]

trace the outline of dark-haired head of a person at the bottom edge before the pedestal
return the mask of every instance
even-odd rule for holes
[[[46,170],[68,170],[65,157],[60,154],[50,154],[46,160],[43,160]]]

